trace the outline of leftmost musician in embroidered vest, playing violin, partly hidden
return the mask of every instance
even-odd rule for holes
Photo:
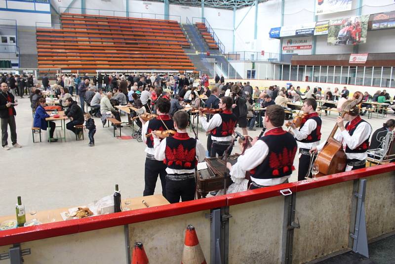
[[[157,101],[158,117],[149,121],[144,121],[140,118],[143,124],[142,135],[143,140],[147,144],[145,152],[147,153],[147,158],[145,160],[145,171],[144,171],[144,192],[143,195],[153,195],[155,191],[155,186],[157,184],[158,175],[162,185],[162,195],[165,195],[166,186],[166,165],[163,164],[162,160],[156,160],[154,157],[154,137],[151,135],[145,137],[145,134],[151,133],[158,130],[174,130],[174,123],[169,116],[170,101],[166,98],[159,98]]]

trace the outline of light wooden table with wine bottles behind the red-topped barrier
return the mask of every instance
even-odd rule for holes
[[[127,205],[127,208],[130,210],[137,210],[137,209],[144,209],[147,208],[143,203],[142,200],[144,200],[150,207],[154,206],[160,206],[160,205],[166,205],[169,204],[169,202],[161,195],[161,194],[156,194],[156,195],[150,195],[150,196],[144,196],[144,197],[135,197],[135,198],[125,198],[121,200],[121,207],[125,208],[125,201],[129,201],[130,204]],[[70,208],[78,207],[78,206],[71,206],[71,207],[64,207],[64,208],[59,208],[59,209],[53,209],[53,210],[46,210],[46,211],[37,211],[37,214],[35,216],[31,216],[29,214],[29,206],[25,205],[25,211],[26,211],[26,222],[32,220],[32,219],[37,219],[41,223],[48,223],[50,222],[48,216],[50,214],[53,214],[55,216],[55,222],[63,221],[62,216],[60,213],[62,212],[68,212]],[[79,205],[81,206],[81,205]],[[12,216],[5,216],[5,217],[0,217],[0,223],[5,221],[5,220],[16,220],[16,215]]]

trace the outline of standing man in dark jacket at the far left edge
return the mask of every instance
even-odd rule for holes
[[[0,126],[1,126],[1,146],[4,150],[9,150],[8,147],[8,126],[11,131],[11,141],[14,148],[22,147],[16,141],[16,124],[14,108],[15,97],[8,92],[8,85],[6,83],[0,84]]]

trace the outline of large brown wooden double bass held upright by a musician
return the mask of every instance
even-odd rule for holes
[[[353,99],[344,103],[344,110],[341,115],[342,118],[357,107],[357,105],[362,101],[363,94],[360,91],[357,91],[354,93],[353,97]],[[337,174],[344,172],[346,169],[347,157],[343,150],[343,144],[333,138],[338,128],[339,127],[336,123],[326,140],[324,147],[316,158],[315,164],[318,164],[319,167],[319,174],[317,176]]]

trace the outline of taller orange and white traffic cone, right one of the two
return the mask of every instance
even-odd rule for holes
[[[181,264],[206,264],[193,225],[188,225],[187,231],[185,232],[185,243]]]

